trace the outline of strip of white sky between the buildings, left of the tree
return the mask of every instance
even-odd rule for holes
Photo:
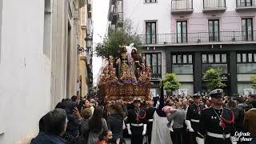
[[[110,0],[93,0],[93,25],[94,25],[94,47],[98,42],[102,42],[107,30],[107,14]],[[102,58],[93,58],[94,83],[98,78],[98,70],[102,66]]]

